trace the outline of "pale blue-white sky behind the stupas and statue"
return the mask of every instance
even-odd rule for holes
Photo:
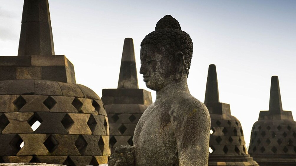
[[[17,55],[23,0],[0,0],[0,55]],[[117,88],[123,41],[134,40],[139,88],[140,43],[166,14],[194,46],[188,85],[204,102],[208,65],[215,64],[220,102],[242,124],[246,146],[260,110],[268,110],[271,76],[278,75],[283,109],[296,118],[294,0],[49,0],[56,55],[75,67],[76,82],[102,97]],[[152,98],[155,100],[155,92]]]

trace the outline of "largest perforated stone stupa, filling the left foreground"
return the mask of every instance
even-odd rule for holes
[[[0,163],[99,165],[108,155],[102,100],[54,55],[48,0],[25,0],[18,56],[0,56]]]

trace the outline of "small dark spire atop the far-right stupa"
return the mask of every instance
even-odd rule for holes
[[[269,111],[274,114],[280,114],[283,111],[283,107],[281,105],[281,92],[279,90],[278,76],[271,77]]]

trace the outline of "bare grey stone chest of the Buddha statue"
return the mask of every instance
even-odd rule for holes
[[[177,142],[171,123],[171,104],[151,104],[139,120],[133,138],[137,166],[178,165]]]

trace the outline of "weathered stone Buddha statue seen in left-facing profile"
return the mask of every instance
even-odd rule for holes
[[[117,147],[109,166],[208,165],[210,115],[187,86],[192,52],[189,34],[170,15],[141,42],[140,73],[156,100],[136,126],[133,146]]]

